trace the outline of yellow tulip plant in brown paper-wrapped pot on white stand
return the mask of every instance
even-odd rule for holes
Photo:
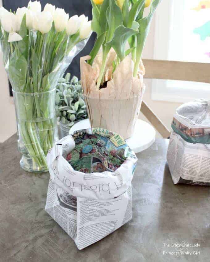
[[[153,14],[153,0],[91,0],[92,30],[97,39],[81,58],[81,81],[92,127],[129,138],[139,115],[145,86],[141,61]],[[126,48],[129,43],[129,48]],[[87,60],[87,62],[86,62]]]

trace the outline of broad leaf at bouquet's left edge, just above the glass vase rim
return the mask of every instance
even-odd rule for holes
[[[18,47],[15,48],[15,51],[11,55],[9,63],[9,79],[13,88],[17,91],[23,91],[25,84],[27,82],[27,60],[24,55],[20,53]]]

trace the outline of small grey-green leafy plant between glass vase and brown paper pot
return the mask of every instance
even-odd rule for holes
[[[58,120],[70,127],[87,118],[83,89],[76,76],[73,76],[70,81],[68,73],[65,78],[58,81],[56,111]]]

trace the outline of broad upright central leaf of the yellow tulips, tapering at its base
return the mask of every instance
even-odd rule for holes
[[[107,8],[106,18],[108,23],[107,42],[112,40],[115,29],[123,24],[123,13],[115,0],[109,0],[109,7]]]

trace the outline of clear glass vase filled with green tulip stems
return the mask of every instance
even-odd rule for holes
[[[13,90],[20,166],[28,172],[47,172],[46,155],[58,141],[56,89],[41,93]]]

